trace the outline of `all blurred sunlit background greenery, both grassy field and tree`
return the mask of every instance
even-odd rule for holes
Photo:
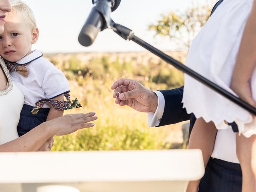
[[[210,7],[195,7],[185,13],[171,12],[149,26],[156,35],[177,41],[177,50],[168,52],[182,63],[188,47],[208,20]],[[150,90],[164,90],[184,84],[184,74],[149,52],[45,54],[70,82],[71,97],[83,108],[64,114],[95,111],[93,128],[66,136],[55,136],[53,151],[169,149],[174,142],[184,147],[181,126],[148,127],[147,114],[114,104],[110,89],[119,78],[138,80]],[[180,138],[177,140],[177,138]],[[176,147],[177,148],[177,147]]]

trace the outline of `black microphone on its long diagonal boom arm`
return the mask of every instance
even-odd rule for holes
[[[168,56],[164,52],[158,50],[157,48],[153,47],[152,45],[150,45],[147,42],[143,41],[142,39],[138,38],[137,36],[134,35],[132,30],[130,30],[129,28],[115,23],[111,19],[110,13],[118,7],[118,5],[120,4],[120,1],[121,0],[92,0],[92,2],[94,3],[94,7],[92,8],[92,11],[91,11],[92,16],[90,17],[90,15],[89,15],[90,22],[87,23],[87,20],[86,20],[86,24],[84,25],[84,27],[82,28],[82,30],[78,36],[78,41],[80,42],[80,44],[82,44],[84,46],[90,46],[92,44],[92,42],[94,41],[94,39],[96,38],[96,36],[98,34],[98,30],[102,31],[106,28],[111,28],[112,30],[114,30],[114,32],[116,32],[119,36],[121,36],[125,40],[132,40],[133,42],[139,44],[140,46],[149,50],[150,52],[152,52],[156,56],[160,57],[167,63],[174,66],[176,69],[181,70],[182,72],[188,74],[192,78],[198,80],[202,84],[208,86],[212,90],[218,92],[220,95],[224,96],[228,100],[234,102],[238,106],[244,108],[245,110],[247,110],[248,112],[250,112],[256,116],[256,108],[254,108],[252,105],[250,105],[247,102],[245,102],[244,100],[234,96],[233,94],[224,90],[222,87],[218,86],[214,82],[211,82],[210,80],[204,78],[197,72],[188,68],[181,62],[175,60],[174,58]],[[115,2],[117,2],[117,3],[115,3]],[[94,11],[94,10],[96,10],[96,11]],[[101,20],[99,20],[100,16],[102,18]],[[92,24],[91,24],[91,22],[92,22]],[[86,34],[86,35],[84,36],[84,34]]]

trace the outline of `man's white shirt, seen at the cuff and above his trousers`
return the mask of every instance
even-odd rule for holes
[[[150,127],[158,126],[164,113],[164,96],[160,91],[154,92],[158,96],[158,106],[155,113],[148,113],[148,125]],[[212,158],[239,163],[236,156],[236,134],[231,128],[218,130],[211,156]]]

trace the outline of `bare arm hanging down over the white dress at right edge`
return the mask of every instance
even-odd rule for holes
[[[231,88],[236,94],[256,106],[252,99],[250,78],[256,66],[256,0],[253,2],[252,11],[246,22],[241,40],[236,65],[233,71]]]

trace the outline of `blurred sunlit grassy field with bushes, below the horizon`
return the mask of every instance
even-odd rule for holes
[[[90,55],[90,53],[87,53]],[[86,54],[86,55],[87,55]],[[142,53],[134,53],[138,57]],[[143,150],[167,149],[170,131],[175,129],[149,128],[147,114],[129,107],[114,104],[110,89],[119,78],[139,80],[152,90],[162,90],[182,86],[183,73],[171,65],[158,60],[150,63],[152,54],[143,53],[146,63],[138,58],[118,54],[92,56],[86,63],[81,54],[72,54],[66,60],[62,55],[48,56],[61,69],[70,83],[71,97],[77,97],[82,108],[65,111],[64,114],[95,111],[98,120],[93,128],[80,130],[66,136],[55,136],[52,150]],[[129,54],[127,54],[129,55]]]

